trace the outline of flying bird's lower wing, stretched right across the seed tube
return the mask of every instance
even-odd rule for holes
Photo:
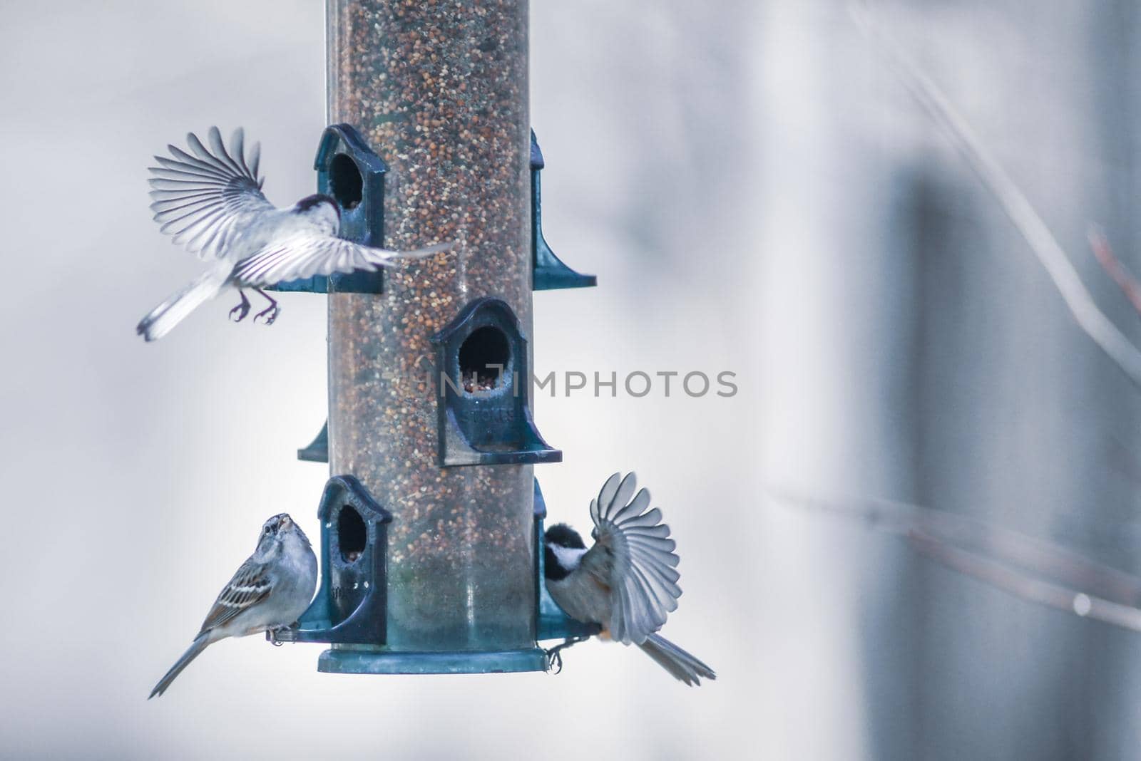
[[[453,244],[437,244],[410,252],[370,248],[361,244],[319,232],[297,232],[275,240],[234,268],[233,278],[243,287],[260,288],[314,275],[375,271],[400,259],[422,259]]]

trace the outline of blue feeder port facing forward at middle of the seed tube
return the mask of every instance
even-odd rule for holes
[[[527,339],[505,302],[471,302],[431,342],[442,467],[563,460],[532,420]]]

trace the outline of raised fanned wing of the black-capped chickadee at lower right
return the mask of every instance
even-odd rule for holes
[[[582,559],[584,570],[607,580],[610,615],[602,623],[624,644],[640,644],[661,629],[681,597],[670,526],[656,507],[647,512],[649,492],[634,494],[637,485],[633,473],[621,480],[615,473],[602,484],[590,502],[594,546]]]

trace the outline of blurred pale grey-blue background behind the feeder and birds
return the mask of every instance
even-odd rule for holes
[[[883,2],[1134,339],[1085,243],[1139,228],[1134,3]],[[537,374],[737,374],[722,399],[535,400],[536,468],[589,525],[636,469],[686,595],[687,689],[591,643],[558,677],[341,677],[321,646],[210,648],[155,680],[324,466],[325,302],[272,328],[229,304],[145,345],[199,271],[151,221],[146,166],[244,125],[266,193],[314,188],[319,2],[0,6],[0,751],[18,758],[1122,759],[1136,633],[932,564],[776,492],[884,497],[1138,571],[1141,393],[840,0],[533,3],[543,222],[594,289],[535,294]],[[600,750],[601,748],[601,750]]]

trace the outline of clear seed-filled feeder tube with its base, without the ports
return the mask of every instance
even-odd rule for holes
[[[527,0],[327,0],[326,14],[329,122],[388,164],[383,244],[458,245],[387,270],[381,294],[330,287],[330,472],[393,522],[387,644],[333,645],[321,668],[542,669],[533,468],[440,466],[431,344],[484,296],[532,335]]]

